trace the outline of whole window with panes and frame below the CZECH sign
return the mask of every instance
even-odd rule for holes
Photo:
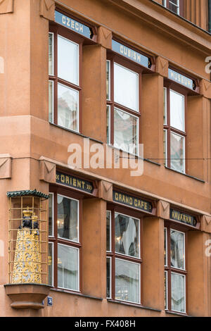
[[[82,38],[63,27],[49,32],[49,122],[80,130]]]

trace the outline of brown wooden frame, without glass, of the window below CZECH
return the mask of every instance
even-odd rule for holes
[[[58,84],[69,87],[78,92],[78,130],[73,130],[68,127],[62,127],[65,130],[73,132],[82,132],[82,45],[84,38],[77,35],[75,32],[68,30],[66,27],[60,25],[50,25],[49,33],[53,34],[53,75],[49,75],[49,81],[53,81],[53,124],[58,125]],[[79,46],[79,85],[63,80],[58,77],[58,35],[64,37],[70,42],[75,42]]]

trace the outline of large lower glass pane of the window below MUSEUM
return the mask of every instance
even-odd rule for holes
[[[171,132],[171,168],[185,173],[185,138]]]

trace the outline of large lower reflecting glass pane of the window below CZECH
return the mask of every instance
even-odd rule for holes
[[[78,131],[78,91],[58,84],[58,125]]]

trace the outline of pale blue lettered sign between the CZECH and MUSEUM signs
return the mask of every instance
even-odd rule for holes
[[[146,68],[149,68],[149,59],[147,56],[144,56],[133,49],[129,49],[129,47],[120,44],[120,42],[112,40],[112,49],[116,53],[121,54],[122,56],[125,56],[126,58],[129,58],[130,60],[139,63]]]

